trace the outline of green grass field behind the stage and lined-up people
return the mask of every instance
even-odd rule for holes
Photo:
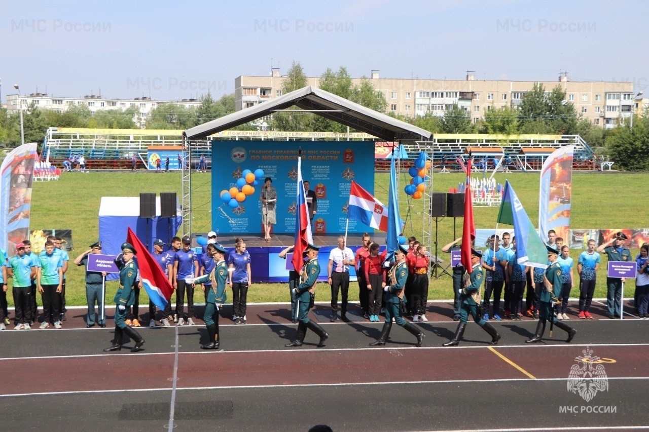
[[[192,228],[195,232],[210,230],[210,173],[192,173]],[[463,173],[434,174],[434,191],[448,192],[449,187],[457,187],[465,176]],[[504,183],[508,179],[519,196],[532,222],[538,219],[539,174],[511,173],[496,174],[496,180]],[[644,194],[624,195],[631,192],[631,185],[644,184],[649,180],[646,173],[575,173],[572,186],[572,228],[644,228],[643,214],[649,204]],[[375,195],[387,204],[387,184],[389,174],[377,173],[375,177]],[[421,237],[423,214],[422,200],[406,200],[402,193],[407,173],[400,175],[400,213],[406,220],[404,234]],[[141,192],[177,192],[180,195],[179,173],[64,173],[58,182],[34,183],[32,193],[32,230],[71,229],[73,232],[74,250],[70,252],[69,270],[67,272],[66,298],[69,305],[85,305],[84,269],[73,264],[78,254],[88,249],[88,245],[97,241],[99,203],[101,197],[137,197]],[[475,208],[476,228],[495,227],[498,208]],[[462,218],[458,218],[457,235],[461,233]],[[453,219],[443,218],[439,221],[439,248],[449,243],[453,237]],[[376,233],[377,239],[385,235]],[[231,246],[231,245],[226,245]],[[435,253],[435,246],[430,252]],[[637,250],[632,250],[633,256]],[[580,251],[571,250],[570,255],[577,259]],[[440,252],[440,255],[441,252]],[[606,258],[603,259],[606,261]],[[595,296],[606,296],[606,273],[602,266],[598,276]],[[358,299],[358,285],[351,284],[350,299]],[[631,282],[629,285],[633,285]],[[108,293],[116,291],[117,283],[108,283]],[[626,296],[632,289],[626,289]],[[428,298],[445,299],[452,296],[452,281],[443,276],[431,280]],[[146,294],[142,294],[145,296]],[[572,295],[577,295],[576,291]],[[12,302],[11,296],[9,301]],[[202,293],[196,294],[197,302],[202,302]],[[327,285],[319,284],[317,301],[330,300]],[[40,304],[40,296],[39,296]],[[147,298],[141,298],[140,304],[146,304]],[[286,302],[288,287],[282,283],[256,283],[248,293],[248,301],[253,302]]]

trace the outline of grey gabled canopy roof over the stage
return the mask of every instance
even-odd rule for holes
[[[271,115],[274,112],[286,110],[291,106],[297,106],[313,114],[321,115],[386,141],[402,139],[423,141],[424,139],[430,139],[432,135],[427,130],[365,108],[365,106],[312,86],[291,91],[291,93],[271,101],[194,126],[182,132],[182,135],[187,139],[203,139],[223,130]]]

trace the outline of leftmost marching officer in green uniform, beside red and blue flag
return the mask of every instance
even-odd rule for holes
[[[117,289],[113,299],[117,305],[115,311],[115,339],[111,346],[104,348],[104,351],[121,350],[122,338],[126,333],[135,342],[135,346],[131,348],[130,352],[138,352],[142,351],[144,339],[142,339],[140,333],[126,325],[129,306],[133,306],[135,303],[133,287],[137,283],[138,263],[134,260],[135,248],[130,243],[122,243],[121,250],[122,253],[115,259],[115,263],[119,267],[119,289]],[[121,262],[122,258],[124,259],[123,263]]]

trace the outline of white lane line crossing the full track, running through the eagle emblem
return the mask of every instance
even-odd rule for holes
[[[649,376],[641,377],[608,377],[609,381],[631,381],[634,379],[649,380]],[[536,383],[539,381],[566,381],[567,378],[499,378],[499,379],[481,379],[485,383],[509,383],[524,381],[525,383]],[[275,385],[223,385],[223,386],[206,386],[206,387],[178,387],[177,391],[184,390],[247,390],[247,389],[289,389],[302,387],[348,387],[360,385],[421,385],[421,384],[452,384],[452,383],[475,383],[474,379],[448,379],[439,381],[382,381],[382,382],[364,382],[364,383],[319,383],[319,384],[275,384]],[[528,384],[531,385],[531,384]],[[169,387],[163,389],[116,389],[116,390],[77,390],[67,392],[41,392],[41,393],[17,393],[17,394],[0,394],[0,398],[12,398],[16,396],[53,396],[66,394],[93,394],[93,393],[117,393],[117,392],[158,392],[169,391]],[[485,429],[487,430],[487,429]],[[491,430],[491,429],[489,429]],[[498,430],[498,429],[496,429]],[[519,429],[517,429],[519,430]],[[533,430],[533,429],[532,429]]]

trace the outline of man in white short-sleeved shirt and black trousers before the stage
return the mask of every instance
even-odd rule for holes
[[[345,247],[345,236],[338,236],[338,247],[329,253],[327,282],[331,285],[331,322],[338,319],[338,290],[341,291],[340,318],[347,322],[347,292],[349,291],[349,266],[356,265],[354,252]]]

